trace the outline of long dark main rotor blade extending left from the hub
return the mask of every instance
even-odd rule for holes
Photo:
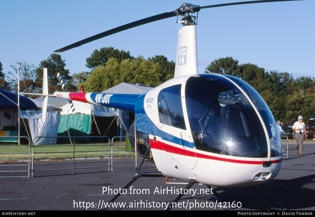
[[[174,11],[169,11],[169,12],[165,12],[163,14],[158,14],[158,15],[154,15],[154,16],[151,16],[151,17],[147,17],[147,18],[144,18],[144,19],[141,19],[141,20],[138,20],[138,21],[134,21],[134,22],[125,24],[125,25],[120,26],[120,27],[116,27],[116,28],[107,30],[105,32],[102,32],[102,33],[99,33],[97,35],[91,36],[89,38],[83,39],[81,41],[78,41],[78,42],[73,43],[71,45],[68,45],[66,47],[60,48],[60,49],[58,49],[58,50],[56,50],[54,52],[67,51],[67,50],[70,50],[72,48],[75,48],[75,47],[84,45],[86,43],[89,43],[91,41],[95,41],[97,39],[101,39],[101,38],[104,38],[106,36],[122,32],[122,31],[127,30],[127,29],[131,29],[133,27],[141,26],[141,25],[144,25],[144,24],[147,24],[147,23],[151,23],[151,22],[158,21],[158,20],[163,20],[163,19],[166,19],[166,18],[174,17],[174,16],[176,16],[176,13]]]

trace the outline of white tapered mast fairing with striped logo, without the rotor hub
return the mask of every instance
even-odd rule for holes
[[[174,77],[198,74],[196,26],[179,28]]]

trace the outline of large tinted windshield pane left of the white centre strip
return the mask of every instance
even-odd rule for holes
[[[187,80],[185,98],[196,149],[230,156],[268,157],[263,125],[248,99],[231,81],[214,74],[194,75]],[[258,110],[261,116],[268,117],[266,108]],[[267,129],[271,131],[271,127]]]

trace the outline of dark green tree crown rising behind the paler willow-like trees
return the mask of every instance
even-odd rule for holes
[[[120,63],[123,59],[134,59],[130,56],[129,51],[119,51],[113,47],[102,47],[100,50],[95,49],[90,57],[86,58],[86,67],[94,69],[99,65],[104,65],[110,58],[117,59]]]

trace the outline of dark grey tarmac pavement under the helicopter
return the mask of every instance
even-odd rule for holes
[[[276,178],[265,184],[287,210],[315,210],[315,143],[304,143],[303,154],[304,156],[297,156],[295,143],[289,143],[289,158],[283,160]],[[96,210],[100,204],[110,201],[134,175],[133,171],[117,171],[1,178],[0,208],[19,211]],[[122,192],[115,201],[117,207],[113,209],[164,210],[176,198],[176,191],[185,188],[185,185],[165,184],[165,178],[139,178],[131,186]],[[214,188],[224,200],[210,194],[207,189],[204,185],[193,185],[172,210],[239,211],[278,208],[271,197],[257,185]]]

